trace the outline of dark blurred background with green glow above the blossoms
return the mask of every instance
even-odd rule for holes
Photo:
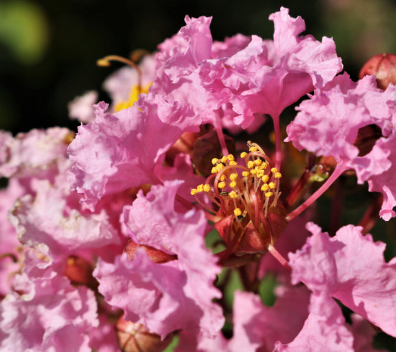
[[[390,0],[2,0],[0,129],[75,129],[67,103],[100,89],[120,66],[97,67],[97,58],[154,51],[178,32],[186,14],[213,16],[216,40],[237,33],[272,38],[268,15],[281,5],[305,19],[306,34],[334,37],[353,79],[370,56],[396,51],[396,1]]]

